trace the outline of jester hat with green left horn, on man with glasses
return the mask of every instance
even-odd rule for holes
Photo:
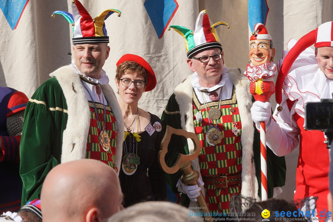
[[[184,37],[187,58],[191,59],[195,54],[203,50],[220,48],[222,51],[222,45],[218,40],[215,30],[215,28],[220,25],[225,25],[228,29],[230,28],[230,26],[225,22],[218,22],[210,26],[207,11],[203,10],[199,13],[198,18],[196,19],[194,32],[188,28],[178,25],[171,25],[170,28],[173,28],[182,37]]]

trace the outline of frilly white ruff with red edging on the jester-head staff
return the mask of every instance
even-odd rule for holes
[[[267,79],[274,77],[277,74],[276,64],[267,62],[259,66],[253,66],[252,63],[247,64],[244,75],[251,81],[255,82],[258,79]]]

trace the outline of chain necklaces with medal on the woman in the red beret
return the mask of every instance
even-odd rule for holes
[[[131,132],[129,127],[127,127],[125,124],[127,131],[125,132],[125,139],[123,142],[125,155],[123,156],[122,168],[123,168],[124,173],[127,175],[132,175],[133,173],[135,173],[135,171],[138,168],[138,164],[140,164],[140,157],[138,156],[138,142],[140,142],[140,140],[141,140],[140,139],[141,136],[138,134],[138,132],[139,132],[139,108],[137,110],[137,114],[135,115],[135,118],[133,121],[134,121],[133,133]],[[137,125],[137,132],[135,133],[134,130],[135,130],[136,125]],[[127,136],[130,136],[129,149],[127,149],[127,144],[126,144]],[[133,140],[133,142],[132,142],[132,140]],[[131,150],[132,146],[133,146],[133,151]]]

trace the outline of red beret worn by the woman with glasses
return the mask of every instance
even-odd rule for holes
[[[146,60],[144,60],[142,57],[137,56],[137,55],[125,54],[125,55],[122,56],[122,58],[120,58],[118,60],[118,62],[116,64],[117,67],[125,61],[136,62],[136,63],[140,64],[142,67],[145,68],[146,73],[147,73],[147,83],[146,83],[145,92],[151,91],[156,87],[155,73],[154,73],[152,67],[150,67],[150,65],[148,64],[148,62]]]

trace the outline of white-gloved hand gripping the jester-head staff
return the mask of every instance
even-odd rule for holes
[[[251,107],[251,116],[257,128],[259,128],[260,122],[263,121],[266,123],[266,126],[268,126],[272,119],[270,103],[255,101]]]

